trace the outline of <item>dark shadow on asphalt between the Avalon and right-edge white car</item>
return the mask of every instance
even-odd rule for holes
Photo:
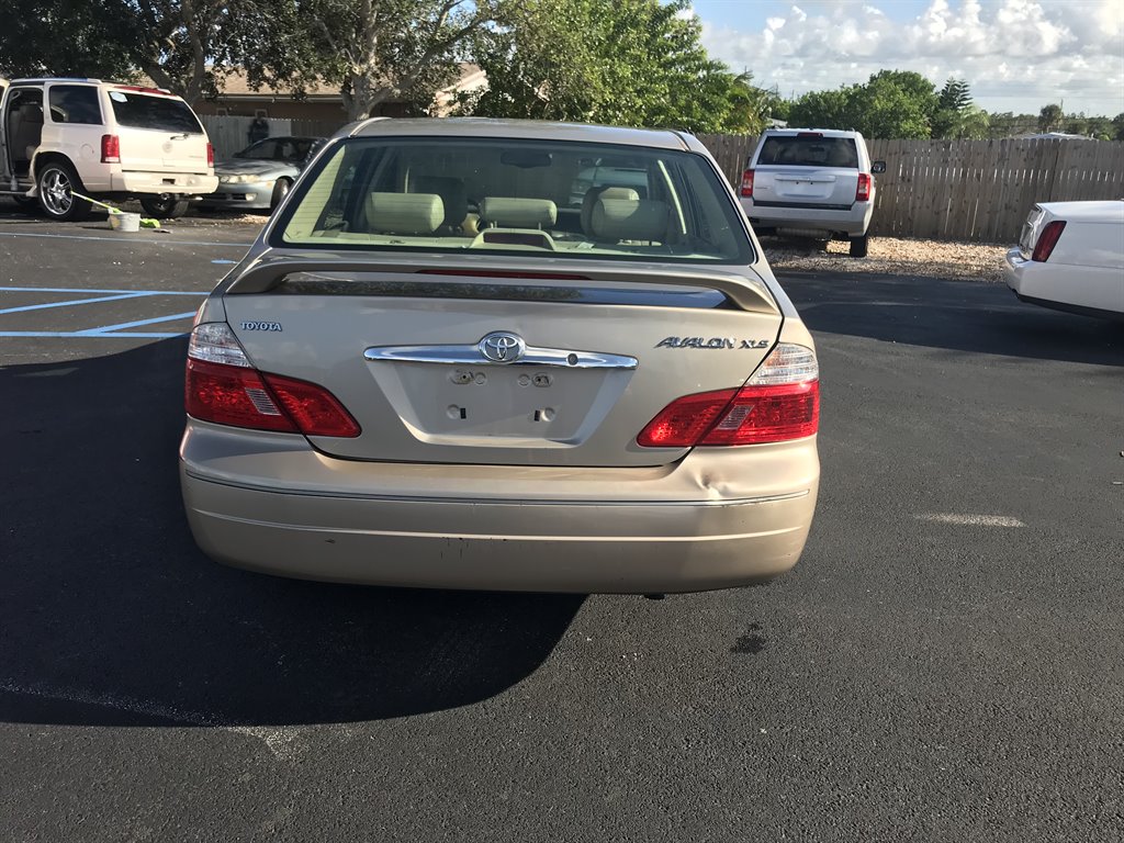
[[[861,273],[778,278],[813,333],[1124,366],[1124,323],[1028,305],[1005,284]]]

